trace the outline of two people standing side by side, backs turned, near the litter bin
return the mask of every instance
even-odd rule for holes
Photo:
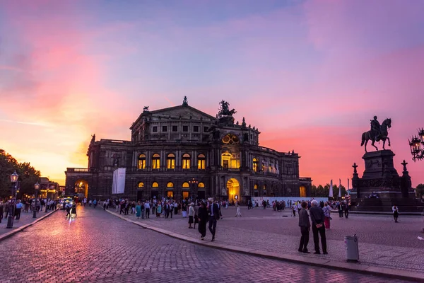
[[[299,226],[302,237],[300,238],[299,251],[301,253],[310,253],[307,250],[307,243],[309,243],[309,234],[311,229],[310,219],[307,214],[307,203],[302,202],[302,209],[299,212]],[[327,254],[326,250],[326,238],[325,238],[325,227],[324,227],[324,211],[318,206],[316,200],[312,200],[312,207],[310,208],[310,216],[312,221],[312,233],[314,234],[314,248],[315,254],[321,254],[319,252],[319,236],[321,236],[322,253]]]

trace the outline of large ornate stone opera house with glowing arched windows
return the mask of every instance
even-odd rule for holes
[[[67,168],[66,195],[112,197],[117,168],[125,168],[124,192],[113,197],[205,198],[246,202],[250,197],[308,197],[312,180],[299,177],[298,154],[259,146],[259,129],[234,122],[220,102],[213,117],[182,105],[145,107],[132,123],[131,141],[95,140],[88,168]]]

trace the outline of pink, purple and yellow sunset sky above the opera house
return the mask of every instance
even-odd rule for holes
[[[362,133],[391,117],[395,166],[406,159],[415,186],[423,11],[404,0],[0,0],[0,149],[64,185],[66,167],[87,166],[91,134],[131,139],[143,106],[187,96],[211,115],[227,100],[261,146],[298,152],[315,185],[347,185],[353,162],[361,176]]]

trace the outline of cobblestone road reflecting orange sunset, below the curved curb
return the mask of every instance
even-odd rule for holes
[[[179,241],[101,209],[49,216],[1,243],[1,282],[402,282]]]

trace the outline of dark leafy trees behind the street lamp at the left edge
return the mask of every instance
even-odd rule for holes
[[[20,192],[18,197],[24,193],[33,195],[34,184],[37,183],[40,177],[40,171],[35,170],[28,162],[18,163],[13,156],[0,149],[0,197],[11,195],[12,183],[10,175],[13,171],[16,171],[19,175]]]

